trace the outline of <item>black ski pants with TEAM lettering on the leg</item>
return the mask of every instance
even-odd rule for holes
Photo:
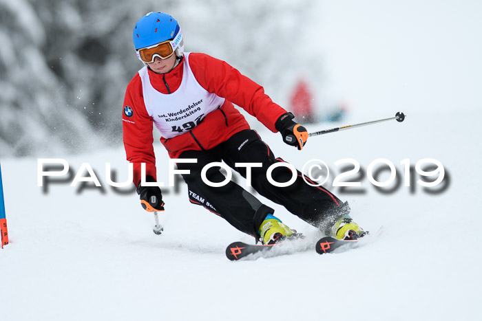
[[[238,230],[258,238],[258,229],[273,208],[264,205],[233,181],[224,186],[212,187],[201,178],[201,171],[211,162],[224,161],[229,167],[246,178],[247,168],[235,167],[235,163],[261,163],[262,167],[251,168],[251,185],[263,197],[281,204],[289,212],[322,230],[329,228],[335,219],[349,212],[348,203],[342,203],[335,195],[323,188],[306,184],[302,173],[297,171],[296,181],[287,187],[272,185],[266,178],[269,166],[284,162],[275,158],[273,152],[253,130],[244,130],[231,136],[215,148],[205,151],[185,151],[180,158],[197,159],[196,163],[178,163],[178,170],[190,170],[182,174],[189,190],[189,201],[204,206],[207,210],[226,219]],[[220,167],[211,167],[207,179],[220,183],[226,179]],[[275,168],[271,177],[277,182],[286,182],[293,177],[289,168]]]

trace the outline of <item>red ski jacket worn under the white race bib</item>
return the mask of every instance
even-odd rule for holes
[[[161,93],[173,93],[181,83],[185,59],[167,74],[156,74],[149,69],[152,87]],[[286,113],[264,93],[263,87],[225,63],[207,54],[191,53],[189,67],[194,77],[209,93],[225,98],[220,109],[207,114],[198,126],[182,135],[166,140],[160,138],[169,157],[178,158],[188,150],[202,151],[213,148],[229,137],[249,129],[244,116],[233,103],[255,116],[268,129],[277,132],[275,122]],[[131,117],[129,107],[132,109]],[[127,113],[126,113],[127,109]],[[143,99],[143,86],[139,74],[127,85],[124,98],[123,140],[127,160],[134,164],[134,184],[140,182],[140,164],[146,164],[146,175],[156,178],[156,157],[152,136],[153,120],[147,113]]]

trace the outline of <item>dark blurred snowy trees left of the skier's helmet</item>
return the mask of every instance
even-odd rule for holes
[[[133,6],[0,0],[0,156],[75,153],[121,142],[116,115],[137,70],[125,67],[135,58],[127,50]]]

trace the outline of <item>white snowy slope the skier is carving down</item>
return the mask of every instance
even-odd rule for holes
[[[245,320],[273,313],[299,320],[335,320],[340,313],[357,313],[359,320],[480,317],[481,175],[474,148],[480,130],[467,133],[461,126],[475,128],[480,116],[430,115],[434,122],[428,122],[428,115],[411,114],[401,124],[312,137],[296,153],[278,135],[262,132],[273,151],[297,167],[319,158],[335,168],[337,159],[351,157],[366,168],[384,157],[401,168],[401,159],[415,164],[432,157],[450,173],[450,185],[439,195],[418,187],[410,194],[404,186],[381,195],[366,179],[365,195],[340,195],[364,228],[386,230],[375,243],[328,256],[313,251],[233,263],[224,256],[226,245],[252,239],[191,205],[184,184],[165,193],[165,232],[157,236],[154,218],[136,195],[118,195],[107,185],[105,193],[91,188],[78,195],[66,183],[43,193],[36,186],[36,159],[6,159],[11,244],[0,252],[1,320]],[[439,129],[444,122],[451,131]],[[158,151],[162,172],[167,163]],[[127,177],[122,150],[64,158],[74,170],[89,162],[103,184],[106,162],[120,173],[118,181]],[[278,207],[277,214],[292,228],[317,235]]]

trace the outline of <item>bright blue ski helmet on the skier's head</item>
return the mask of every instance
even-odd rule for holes
[[[132,33],[134,49],[143,49],[151,45],[171,40],[176,56],[184,54],[184,41],[178,21],[163,12],[149,12],[137,21]]]

